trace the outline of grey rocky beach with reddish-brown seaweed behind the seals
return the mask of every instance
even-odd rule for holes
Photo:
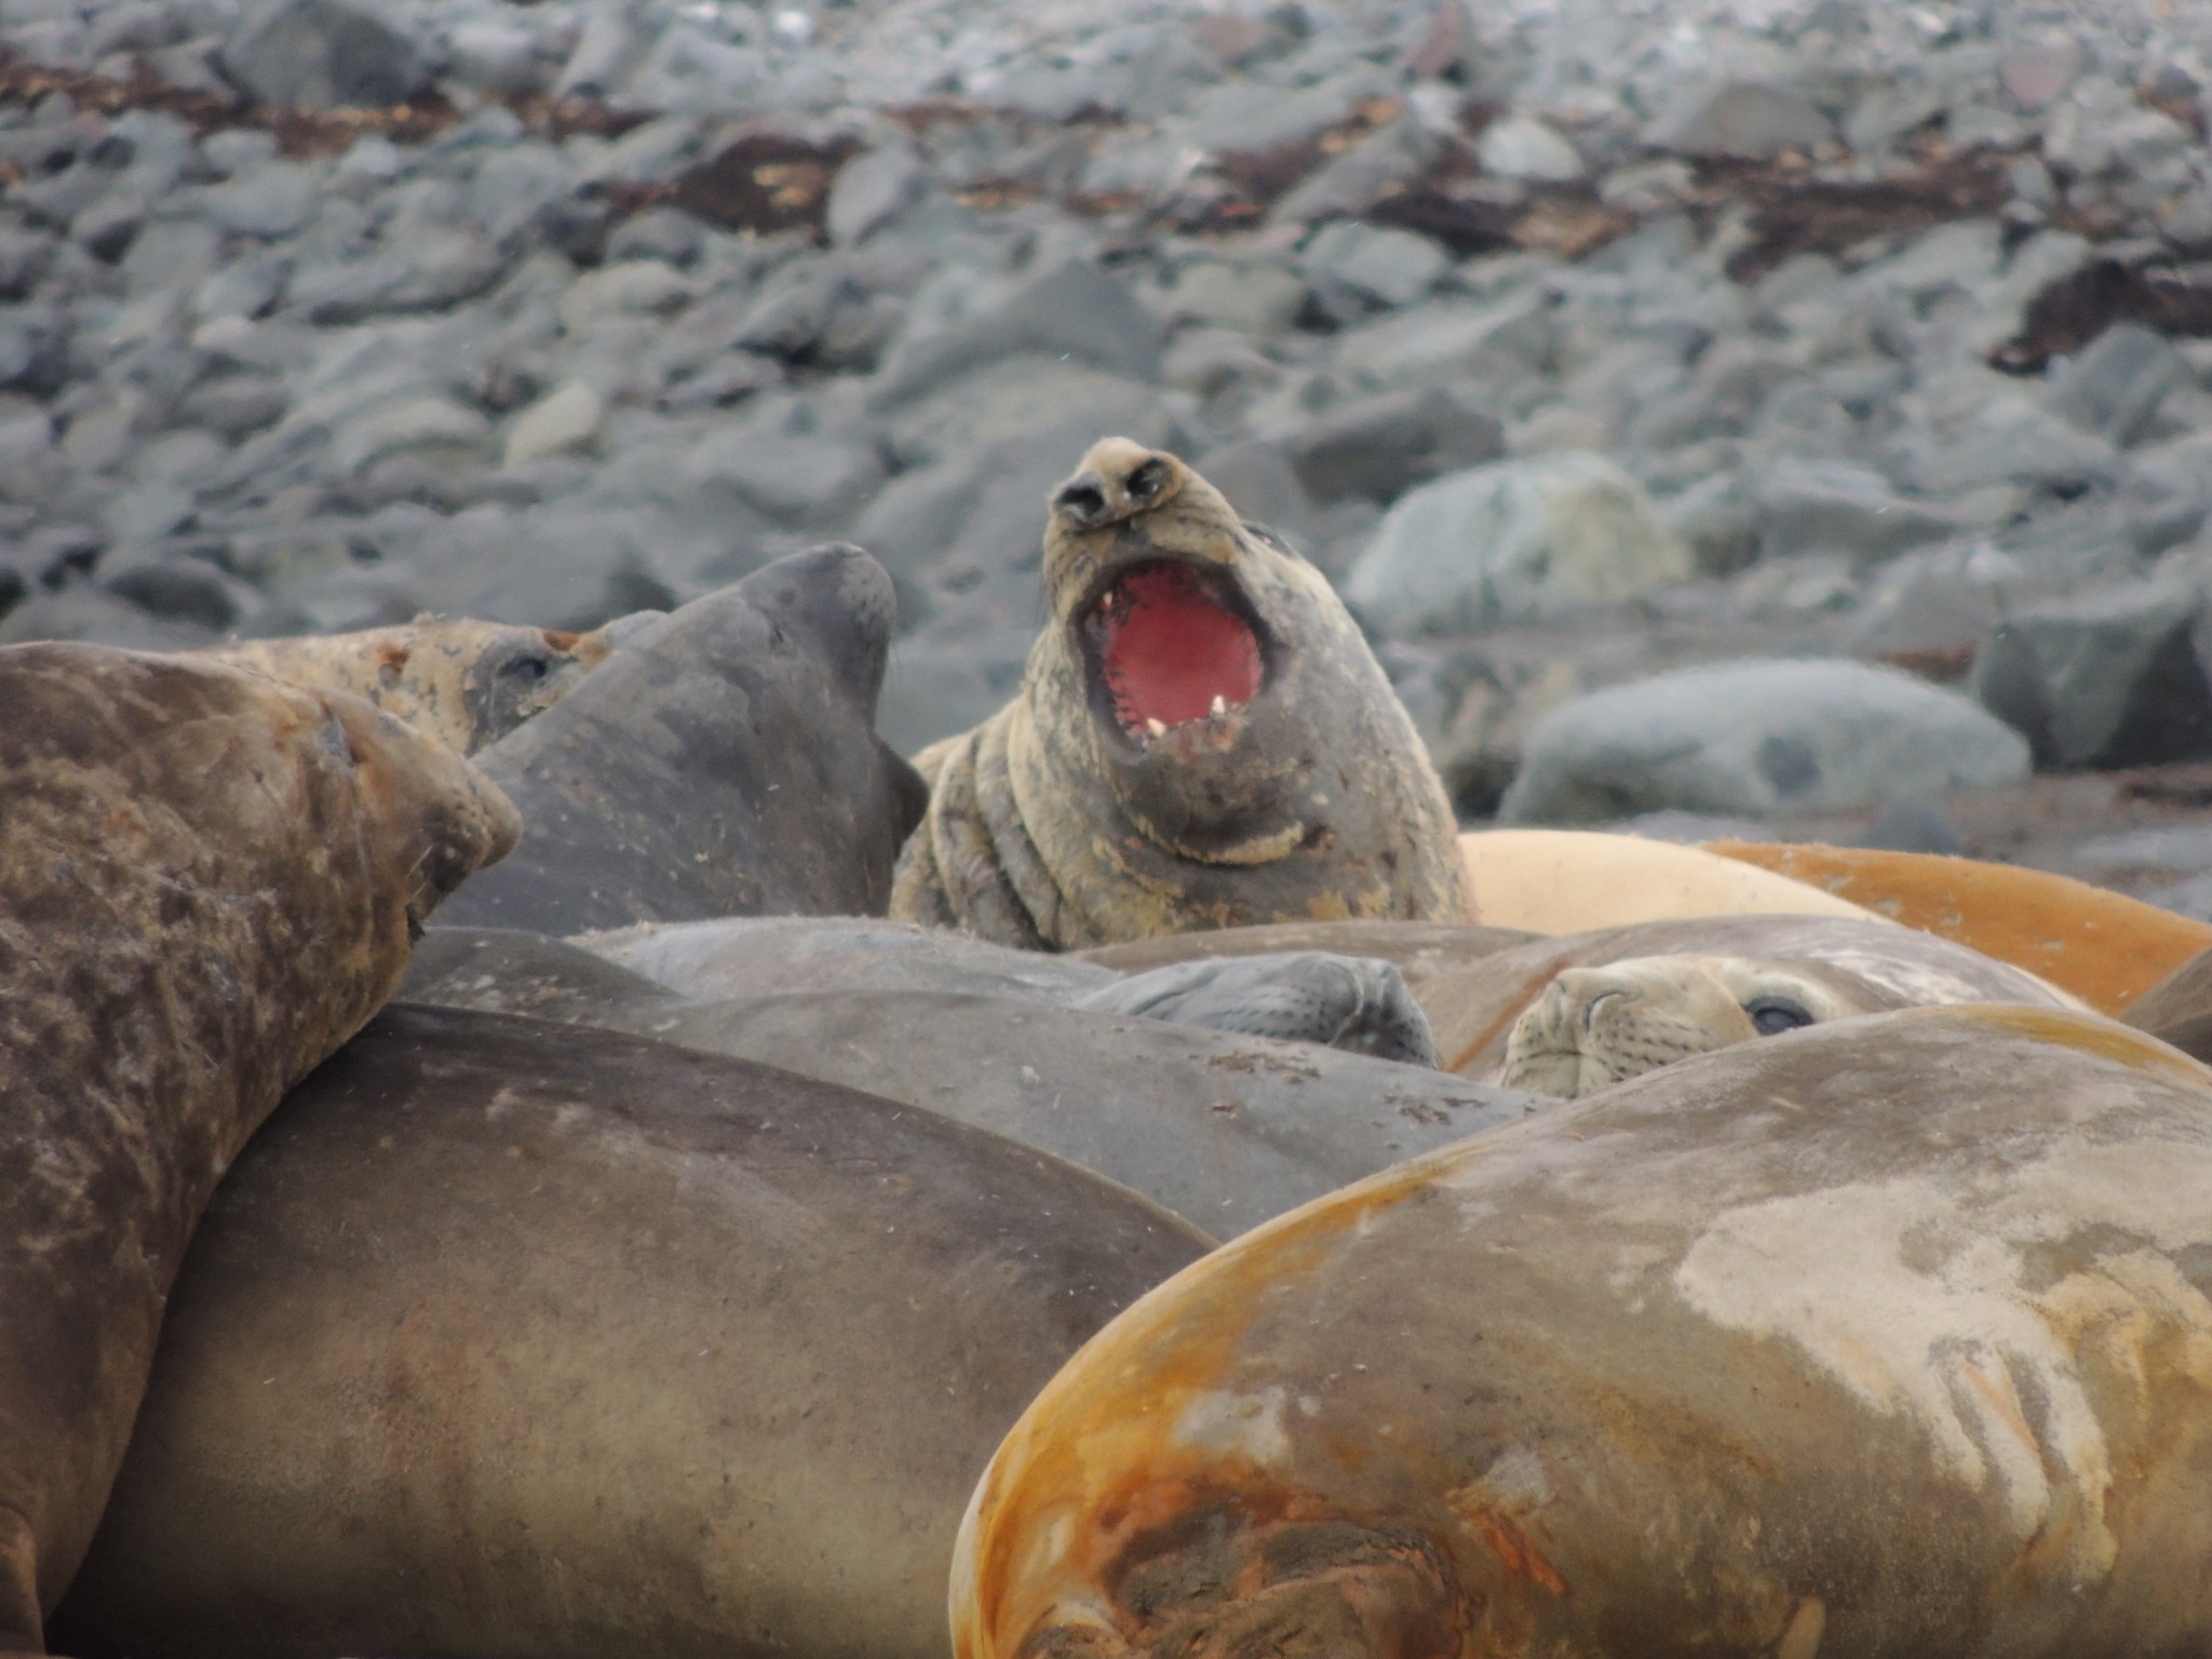
[[[0,639],[825,535],[973,723],[1190,456],[1462,814],[2212,916],[2212,7],[0,0]]]

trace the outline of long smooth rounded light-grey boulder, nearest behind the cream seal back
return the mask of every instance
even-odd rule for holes
[[[2026,741],[1958,692],[1854,661],[1739,661],[1555,710],[1531,732],[1500,818],[1851,812],[2026,772]]]

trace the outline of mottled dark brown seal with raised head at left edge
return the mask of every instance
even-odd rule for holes
[[[513,845],[436,739],[190,657],[0,648],[0,1648],[35,1650],[217,1177]]]

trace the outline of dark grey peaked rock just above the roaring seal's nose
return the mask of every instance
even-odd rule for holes
[[[1150,380],[1159,374],[1159,319],[1117,276],[1071,259],[951,330],[900,343],[883,367],[876,398],[896,405],[1024,352]]]

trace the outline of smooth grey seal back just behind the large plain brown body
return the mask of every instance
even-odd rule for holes
[[[860,1088],[1082,1164],[1214,1237],[1548,1104],[1358,1053],[1037,995],[805,975],[799,964],[794,989],[695,1002],[557,940],[431,929],[403,991]]]

